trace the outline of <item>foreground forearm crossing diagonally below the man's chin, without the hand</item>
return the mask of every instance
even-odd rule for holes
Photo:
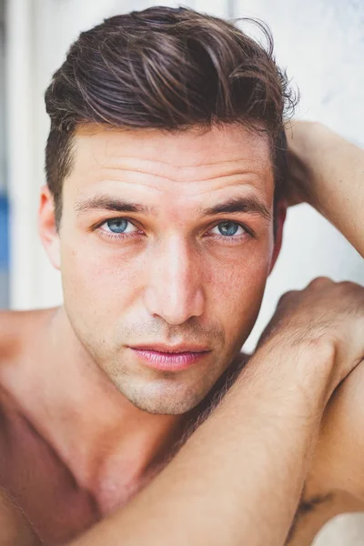
[[[284,354],[261,349],[157,479],[74,546],[282,546],[325,405],[320,380],[295,380],[311,355]]]

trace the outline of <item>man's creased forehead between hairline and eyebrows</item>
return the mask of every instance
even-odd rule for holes
[[[143,179],[144,184],[159,187],[176,182],[182,190],[192,182],[222,187],[237,177],[248,177],[262,192],[271,190],[268,136],[232,124],[177,132],[96,124],[76,129],[70,178],[76,178],[80,191],[106,179]]]

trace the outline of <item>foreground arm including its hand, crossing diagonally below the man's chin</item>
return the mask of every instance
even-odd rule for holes
[[[126,509],[73,546],[282,546],[327,401],[364,358],[363,309],[350,283],[319,279],[286,295],[217,410]]]

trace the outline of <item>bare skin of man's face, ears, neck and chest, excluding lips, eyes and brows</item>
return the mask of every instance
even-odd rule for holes
[[[274,238],[273,190],[268,143],[241,126],[173,136],[77,131],[59,232],[46,187],[39,210],[65,305],[3,319],[11,366],[0,367],[8,422],[0,482],[45,544],[75,537],[152,480],[238,357],[281,244],[285,206]],[[127,198],[155,215],[85,210],[96,196]],[[260,210],[200,212],[233,197],[255,198]],[[136,226],[127,225],[131,235],[108,238],[106,221],[123,216]],[[234,242],[218,231],[227,220],[238,228]],[[181,341],[210,352],[167,373],[128,349]]]

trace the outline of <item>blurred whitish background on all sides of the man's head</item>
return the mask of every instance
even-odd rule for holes
[[[59,274],[45,258],[36,228],[48,131],[43,95],[52,73],[80,31],[106,16],[155,4],[178,5],[163,0],[0,0],[0,308],[41,308],[62,301]],[[278,64],[300,89],[297,116],[319,120],[364,144],[363,0],[189,0],[183,5],[226,18],[265,20]],[[294,207],[248,350],[279,296],[321,275],[364,284],[364,261],[313,209]]]

